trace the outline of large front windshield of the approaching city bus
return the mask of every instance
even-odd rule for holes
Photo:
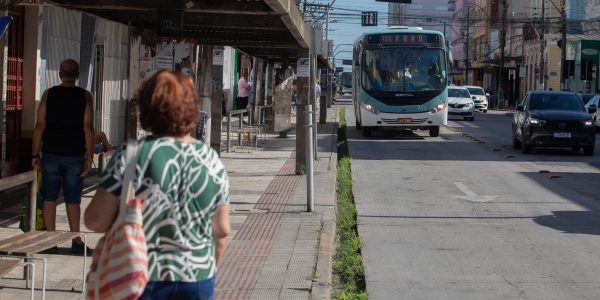
[[[442,49],[365,49],[362,85],[367,91],[412,92],[443,90],[447,84]]]

